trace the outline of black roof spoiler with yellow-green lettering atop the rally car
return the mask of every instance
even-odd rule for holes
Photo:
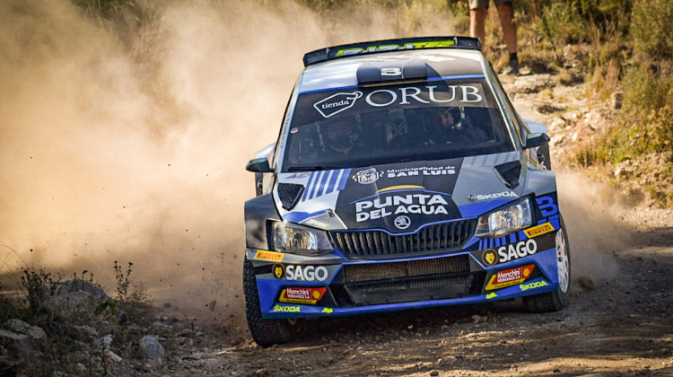
[[[481,50],[481,41],[469,37],[420,37],[372,40],[371,42],[352,43],[311,51],[304,55],[304,66],[310,66],[339,57],[418,48],[469,48]]]

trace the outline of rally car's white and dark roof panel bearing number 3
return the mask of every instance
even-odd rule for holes
[[[299,82],[299,92],[347,89],[366,83],[403,82],[381,77],[380,69],[411,72],[412,79],[481,78],[485,75],[484,55],[476,49],[399,49],[371,55],[339,57],[307,66]],[[377,76],[378,74],[378,76]],[[421,77],[423,76],[423,77]]]

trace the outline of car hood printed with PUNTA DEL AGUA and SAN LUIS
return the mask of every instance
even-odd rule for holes
[[[494,169],[521,153],[404,162],[331,171],[281,173],[274,198],[284,221],[325,230],[415,232],[473,218],[520,197]],[[525,169],[520,169],[525,179]]]

